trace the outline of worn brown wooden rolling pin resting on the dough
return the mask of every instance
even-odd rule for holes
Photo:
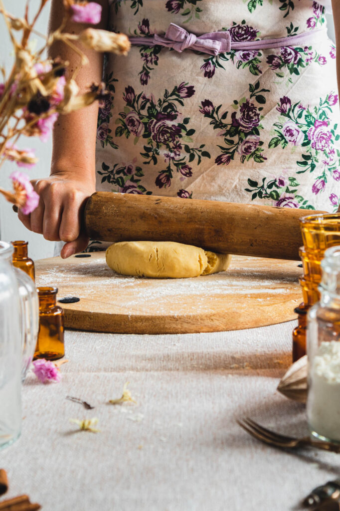
[[[296,260],[301,217],[296,208],[96,192],[85,207],[93,240],[177,241],[220,253]]]

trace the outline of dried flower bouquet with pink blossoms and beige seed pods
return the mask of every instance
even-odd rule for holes
[[[103,101],[109,94],[105,85],[89,84],[85,94],[79,94],[75,81],[77,69],[68,76],[68,63],[60,58],[44,58],[44,54],[56,41],[62,41],[80,57],[80,65],[87,63],[84,53],[74,42],[98,52],[113,52],[126,55],[130,41],[124,34],[106,30],[86,28],[80,34],[64,32],[67,22],[97,25],[102,8],[95,2],[63,0],[65,15],[60,27],[49,36],[36,31],[35,26],[42,9],[49,0],[40,0],[37,13],[30,21],[29,0],[22,18],[12,16],[0,0],[0,13],[4,16],[14,49],[14,63],[9,74],[0,67],[3,83],[0,82],[0,167],[6,159],[15,161],[19,167],[31,168],[37,162],[31,149],[20,149],[16,145],[20,135],[38,136],[45,142],[51,133],[58,115],[67,114],[94,101]],[[32,50],[30,37],[34,34],[43,39],[41,48]],[[24,214],[31,213],[39,202],[30,178],[19,171],[11,174],[13,191],[0,188],[7,200],[21,208]]]

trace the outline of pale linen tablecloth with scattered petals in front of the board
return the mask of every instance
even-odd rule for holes
[[[159,336],[66,331],[62,381],[43,385],[30,374],[23,386],[21,437],[0,452],[7,496],[27,493],[44,511],[293,509],[338,476],[340,457],[265,446],[235,419],[306,431],[304,406],[276,391],[295,324]],[[137,405],[107,404],[127,381]],[[91,417],[101,432],[69,422]]]

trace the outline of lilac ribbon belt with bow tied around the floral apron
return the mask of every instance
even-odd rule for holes
[[[131,44],[142,46],[164,46],[182,53],[184,50],[195,50],[209,55],[230,52],[230,50],[263,50],[265,48],[281,48],[283,46],[296,46],[308,44],[317,33],[325,32],[323,29],[304,32],[290,37],[277,39],[262,39],[260,41],[232,41],[230,33],[210,32],[196,36],[182,27],[171,23],[164,37],[154,34],[153,37],[130,37]]]

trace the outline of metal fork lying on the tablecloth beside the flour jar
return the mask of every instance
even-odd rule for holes
[[[334,444],[333,442],[326,441],[318,442],[318,440],[313,440],[309,436],[296,438],[293,436],[281,435],[280,433],[276,433],[275,431],[271,431],[264,428],[263,426],[260,426],[256,422],[249,419],[249,417],[239,419],[237,420],[237,423],[254,438],[261,440],[261,442],[264,442],[265,444],[280,447],[281,449],[297,449],[299,447],[309,446],[315,447],[316,449],[323,449],[325,451],[340,453],[339,444]]]

